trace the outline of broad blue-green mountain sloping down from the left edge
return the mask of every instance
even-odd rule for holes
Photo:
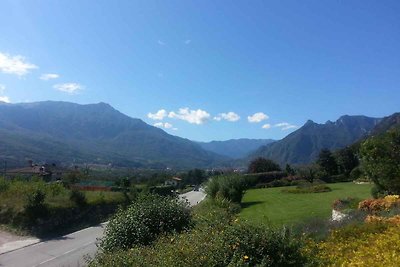
[[[0,102],[0,161],[207,167],[225,160],[105,103]]]

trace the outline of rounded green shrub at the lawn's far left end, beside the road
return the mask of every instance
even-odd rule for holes
[[[213,198],[224,198],[232,202],[240,203],[247,181],[240,175],[222,175],[210,179],[206,186],[207,194]]]

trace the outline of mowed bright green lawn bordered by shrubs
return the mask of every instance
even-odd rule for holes
[[[371,197],[370,184],[328,184],[331,192],[293,194],[283,193],[288,187],[250,189],[242,200],[240,218],[254,223],[293,225],[311,218],[329,218],[332,203],[339,198]]]

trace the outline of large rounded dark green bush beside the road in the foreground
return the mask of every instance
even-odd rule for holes
[[[110,220],[100,247],[114,251],[148,245],[162,233],[186,229],[190,222],[186,203],[158,195],[143,196]]]

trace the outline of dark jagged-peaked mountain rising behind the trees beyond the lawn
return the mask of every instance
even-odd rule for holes
[[[262,146],[249,157],[266,157],[279,164],[306,164],[314,161],[321,149],[336,150],[367,136],[381,121],[366,116],[342,116],[336,122],[318,124],[307,121],[282,140]]]

